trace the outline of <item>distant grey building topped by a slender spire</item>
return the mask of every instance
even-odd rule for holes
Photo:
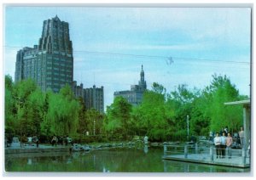
[[[127,101],[132,105],[141,104],[143,101],[143,93],[147,90],[143,65],[140,76],[141,79],[138,82],[138,85],[131,85],[131,90],[114,92],[113,98],[121,96],[127,99]]]

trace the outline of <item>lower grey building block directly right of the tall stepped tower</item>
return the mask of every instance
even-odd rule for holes
[[[83,88],[83,84],[77,85],[73,82],[73,92],[76,98],[83,98],[86,110],[95,109],[99,112],[104,112],[104,88],[96,87],[95,85],[90,88]]]

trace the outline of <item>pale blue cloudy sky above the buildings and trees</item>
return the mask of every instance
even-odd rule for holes
[[[167,93],[179,84],[202,89],[217,74],[250,95],[250,8],[6,6],[5,75],[14,79],[17,51],[38,44],[43,21],[56,14],[69,23],[74,80],[103,86],[105,106],[138,83],[141,65],[148,89],[153,82]]]

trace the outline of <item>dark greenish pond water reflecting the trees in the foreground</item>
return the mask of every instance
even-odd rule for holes
[[[6,172],[250,172],[249,168],[162,160],[163,148],[115,148],[5,156]]]

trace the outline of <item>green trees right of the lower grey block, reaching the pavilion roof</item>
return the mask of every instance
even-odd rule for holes
[[[119,138],[139,135],[152,141],[185,141],[187,118],[189,137],[209,136],[229,127],[237,132],[242,125],[242,107],[224,105],[225,102],[247,99],[239,94],[227,76],[212,76],[209,86],[200,90],[181,84],[166,93],[166,88],[154,82],[143,93],[143,102],[132,107],[125,98],[115,98],[107,107],[103,121],[105,132]]]

